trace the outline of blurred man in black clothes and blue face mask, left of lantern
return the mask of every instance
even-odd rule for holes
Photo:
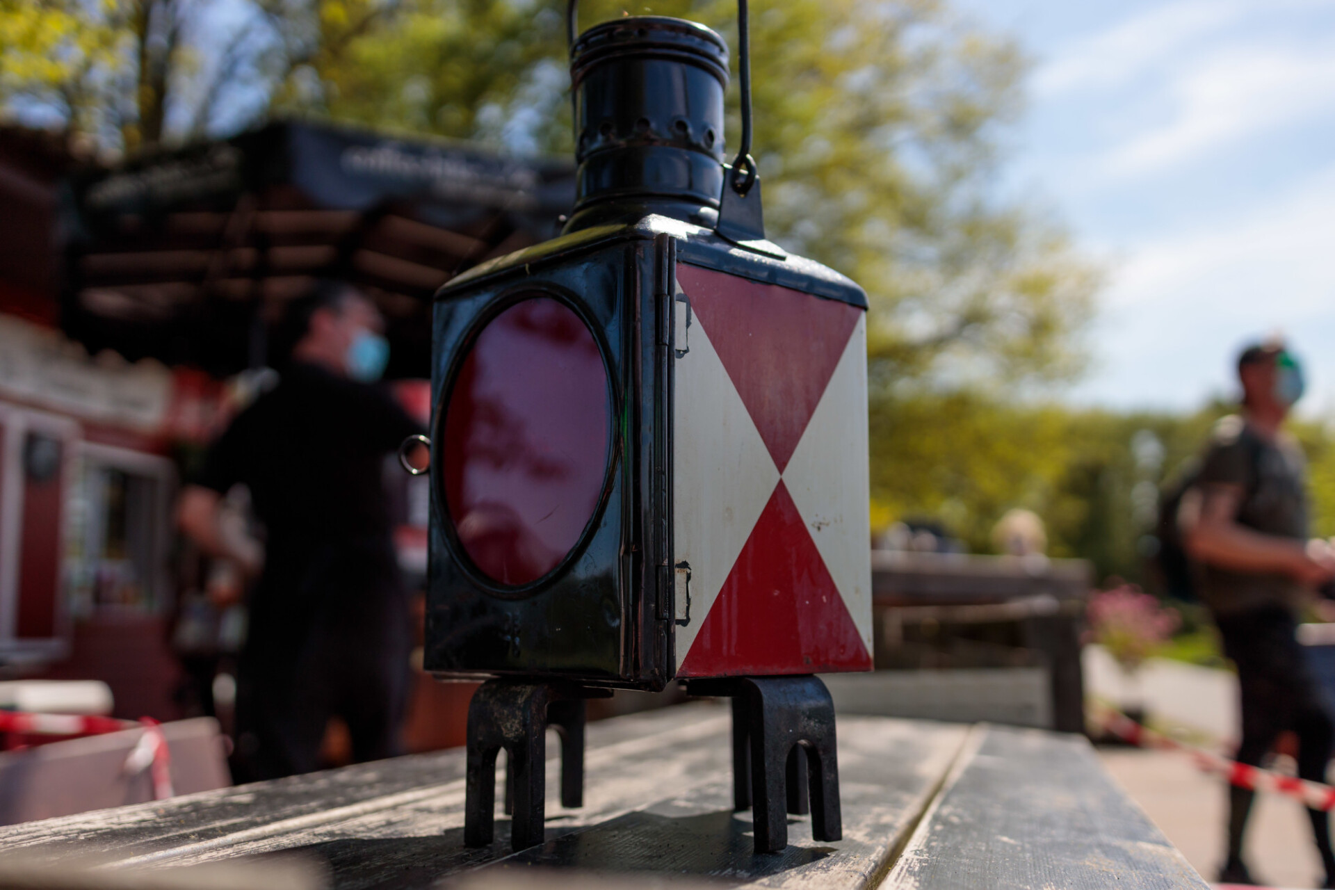
[[[178,520],[207,552],[258,578],[236,687],[238,781],[318,769],[330,717],[356,761],[400,750],[410,679],[409,598],[399,576],[384,458],[421,432],[372,386],[383,320],[358,291],[322,282],[287,315],[290,360],[242,411],[182,494]],[[263,558],[220,527],[220,504],[250,488]]]

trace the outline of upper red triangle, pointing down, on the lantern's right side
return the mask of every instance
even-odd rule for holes
[[[862,310],[697,266],[677,280],[782,472]]]

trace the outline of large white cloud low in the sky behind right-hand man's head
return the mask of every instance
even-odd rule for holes
[[[1247,340],[1283,331],[1310,368],[1308,414],[1335,410],[1335,164],[1224,220],[1129,246],[1076,402],[1192,408],[1232,390]]]

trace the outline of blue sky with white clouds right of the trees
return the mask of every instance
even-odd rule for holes
[[[1283,331],[1335,415],[1335,0],[955,0],[1033,68],[1004,188],[1108,270],[1077,403],[1191,408]]]

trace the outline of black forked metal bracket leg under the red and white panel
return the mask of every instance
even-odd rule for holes
[[[733,806],[752,807],[756,853],[788,846],[788,813],[812,815],[812,838],[838,841],[834,702],[816,677],[689,681],[692,695],[733,707]],[[809,795],[808,795],[809,791]]]

